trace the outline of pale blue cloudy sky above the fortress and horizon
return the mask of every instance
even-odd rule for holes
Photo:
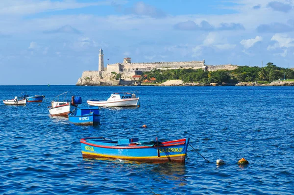
[[[74,85],[100,48],[104,66],[294,67],[293,0],[1,0],[0,17],[0,85]]]

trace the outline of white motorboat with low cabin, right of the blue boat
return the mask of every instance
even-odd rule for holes
[[[89,99],[87,103],[91,106],[109,106],[124,107],[137,106],[140,107],[140,97],[136,97],[135,93],[120,92],[112,93],[106,100]]]

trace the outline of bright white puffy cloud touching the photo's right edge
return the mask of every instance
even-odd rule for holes
[[[272,46],[268,46],[268,50],[294,47],[294,39],[288,37],[288,35],[286,34],[275,34],[271,37],[270,40],[274,41],[275,44]]]

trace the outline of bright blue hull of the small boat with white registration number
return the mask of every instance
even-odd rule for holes
[[[76,125],[98,125],[100,124],[100,115],[95,113],[90,113],[87,115],[72,115],[71,113],[68,114],[69,121],[76,124]]]

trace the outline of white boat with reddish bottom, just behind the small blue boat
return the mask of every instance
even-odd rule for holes
[[[74,101],[74,96],[69,96],[68,93],[70,92],[64,92],[51,101],[51,105],[48,107],[51,116],[68,117],[68,114],[77,106],[78,102]]]

